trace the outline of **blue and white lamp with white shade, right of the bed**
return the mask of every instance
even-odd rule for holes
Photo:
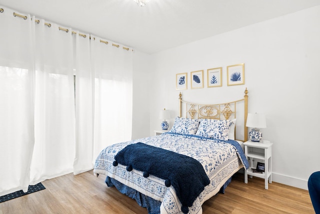
[[[248,113],[246,118],[246,127],[252,128],[251,131],[249,131],[250,140],[253,142],[259,142],[262,140],[262,133],[258,128],[266,128],[265,115]]]

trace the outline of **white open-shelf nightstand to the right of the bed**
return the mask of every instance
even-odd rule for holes
[[[269,141],[252,142],[246,141],[244,145],[244,154],[249,160],[249,168],[244,170],[244,183],[248,182],[248,175],[264,178],[264,188],[268,189],[268,181],[272,182],[272,167],[271,167],[271,146]],[[264,161],[264,172],[257,173],[252,171],[253,159],[259,159]]]

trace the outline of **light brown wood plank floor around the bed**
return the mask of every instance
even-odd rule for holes
[[[46,189],[0,203],[6,213],[137,213],[146,214],[135,200],[107,187],[104,175],[92,170],[79,175],[67,174],[42,184]],[[203,214],[211,213],[313,213],[308,191],[252,178],[243,183],[236,174],[224,194],[218,193],[202,205]]]

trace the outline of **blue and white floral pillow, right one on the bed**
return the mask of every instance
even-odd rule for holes
[[[201,119],[195,135],[216,140],[228,140],[231,120]]]

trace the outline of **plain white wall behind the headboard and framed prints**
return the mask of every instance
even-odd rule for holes
[[[149,135],[160,129],[160,109],[178,114],[177,73],[188,73],[188,89],[181,91],[188,101],[232,101],[247,87],[249,112],[266,114],[261,131],[273,142],[273,181],[306,189],[308,176],[320,170],[319,38],[317,6],[151,55],[150,91],[140,89],[150,95]],[[245,85],[227,86],[226,66],[239,63]],[[223,67],[222,87],[207,88],[205,79],[203,89],[190,89],[191,71],[204,70],[206,77],[206,69],[216,67]],[[134,105],[142,100],[136,97]]]

